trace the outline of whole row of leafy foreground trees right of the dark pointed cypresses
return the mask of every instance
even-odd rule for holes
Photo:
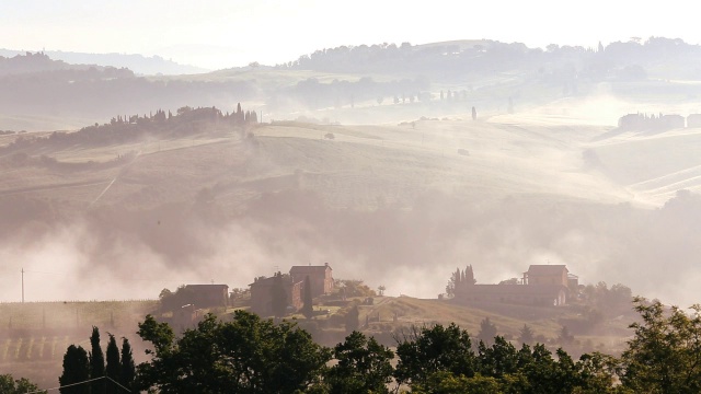
[[[701,390],[700,306],[691,314],[635,299],[641,321],[620,358],[503,337],[479,340],[455,324],[395,334],[397,350],[358,332],[333,348],[289,322],[208,315],[176,337],[152,316],[139,324],[152,358],[137,387],[161,393],[694,393]],[[483,335],[491,323],[483,322]]]

